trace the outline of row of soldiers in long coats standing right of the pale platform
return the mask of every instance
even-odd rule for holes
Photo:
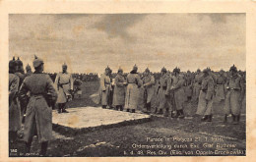
[[[245,76],[238,74],[236,67],[230,67],[229,74],[224,71],[218,74],[205,69],[193,73],[181,73],[175,68],[172,73],[163,67],[160,79],[156,81],[149,68],[138,74],[138,67],[125,78],[119,69],[114,81],[111,80],[111,69],[107,67],[100,77],[99,96],[102,108],[114,105],[117,110],[134,113],[140,104],[140,90],[144,90],[145,113],[152,113],[152,100],[157,93],[155,113],[172,118],[184,118],[184,102],[191,99],[198,103],[195,116],[202,116],[202,121],[211,122],[213,117],[214,98],[224,102],[224,121],[231,114],[234,124],[240,119],[241,100],[245,95]],[[111,86],[113,84],[113,86]],[[112,96],[111,96],[112,93]],[[110,98],[110,99],[109,99]],[[112,101],[112,103],[111,103]]]

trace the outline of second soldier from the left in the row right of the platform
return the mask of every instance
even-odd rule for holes
[[[118,69],[117,76],[114,79],[114,92],[113,92],[113,105],[116,110],[123,111],[124,100],[125,100],[125,86],[127,82],[123,77],[123,70]]]

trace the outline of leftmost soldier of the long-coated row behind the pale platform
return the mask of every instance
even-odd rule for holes
[[[109,106],[109,95],[111,90],[111,81],[110,81],[111,69],[109,67],[105,68],[105,73],[100,77],[100,94],[101,94],[101,106],[103,109],[106,109],[106,106]]]

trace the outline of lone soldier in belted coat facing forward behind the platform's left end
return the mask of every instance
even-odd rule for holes
[[[67,69],[68,66],[64,63],[62,65],[62,73],[57,74],[54,81],[58,91],[58,113],[68,113],[66,103],[72,99],[73,78],[67,72]]]

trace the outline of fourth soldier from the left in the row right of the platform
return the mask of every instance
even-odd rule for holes
[[[145,70],[145,75],[143,78],[143,86],[145,88],[145,101],[146,101],[146,113],[151,113],[151,102],[153,99],[154,91],[155,91],[155,78],[151,75],[149,68]]]

